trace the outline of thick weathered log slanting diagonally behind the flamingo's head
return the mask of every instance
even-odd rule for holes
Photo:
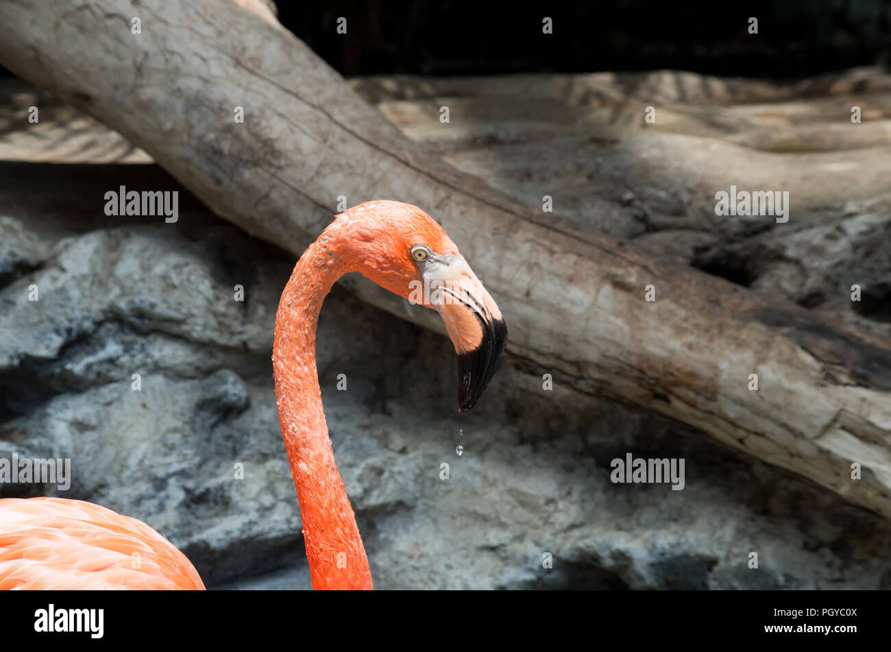
[[[887,338],[647,255],[462,174],[271,14],[220,0],[6,0],[0,63],[117,130],[219,215],[295,256],[340,195],[348,205],[421,206],[501,306],[514,363],[683,422],[891,517]],[[456,122],[453,114],[449,126]],[[782,147],[769,128],[759,137],[766,150]],[[347,284],[441,329],[436,314],[361,280]],[[650,285],[655,301],[645,299]],[[530,390],[542,391],[540,381]]]

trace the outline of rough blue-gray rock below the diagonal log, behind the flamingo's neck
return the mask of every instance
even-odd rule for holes
[[[293,257],[199,210],[69,221],[53,235],[0,215],[0,452],[70,457],[74,475],[68,492],[0,495],[141,518],[211,588],[309,588],[270,365]],[[460,416],[451,344],[342,289],[318,364],[378,588],[891,588],[881,518],[674,424],[546,391],[510,355]],[[613,484],[626,452],[683,458],[683,491]]]

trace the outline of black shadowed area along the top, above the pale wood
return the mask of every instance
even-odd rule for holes
[[[567,3],[570,4],[570,3]],[[880,0],[773,3],[348,2],[279,4],[282,23],[340,74],[482,75],[683,69],[804,77],[885,63]],[[349,38],[332,39],[339,16]],[[542,18],[553,19],[552,37]],[[758,34],[748,34],[748,19]]]

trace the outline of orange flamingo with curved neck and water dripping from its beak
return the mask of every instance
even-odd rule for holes
[[[369,201],[304,252],[275,315],[273,371],[314,589],[372,589],[356,516],[334,462],[315,365],[324,297],[344,273],[437,310],[458,356],[458,410],[495,373],[507,329],[442,227],[420,208]],[[185,555],[135,518],[85,501],[0,500],[0,589],[204,589]]]

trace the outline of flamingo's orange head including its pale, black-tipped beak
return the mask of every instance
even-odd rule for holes
[[[369,201],[341,213],[356,272],[436,310],[458,355],[458,411],[477,404],[507,344],[501,311],[443,228],[420,208]]]

